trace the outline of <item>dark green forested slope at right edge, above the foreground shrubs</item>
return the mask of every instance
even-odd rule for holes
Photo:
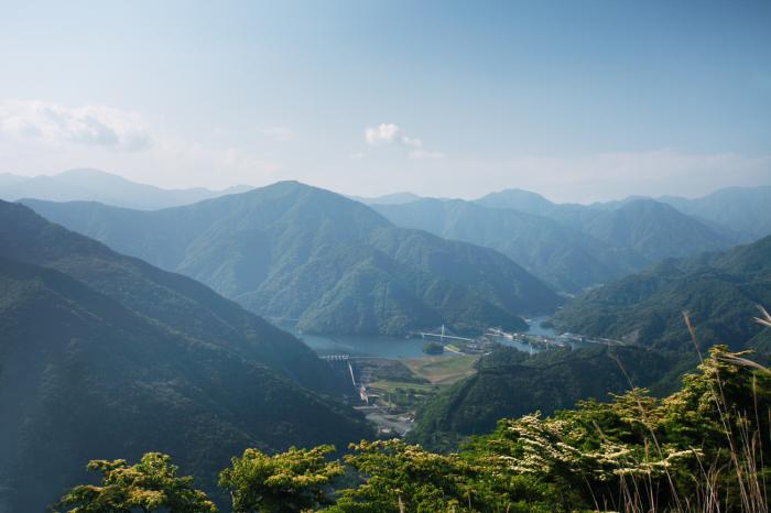
[[[688,312],[703,345],[738,348],[760,327],[756,305],[771,304],[771,237],[725,253],[667,260],[590,291],[554,317],[575,332],[689,348],[682,312]]]

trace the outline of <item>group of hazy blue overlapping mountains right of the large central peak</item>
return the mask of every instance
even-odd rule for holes
[[[610,209],[558,206],[532,193],[508,193],[479,201],[421,199],[373,208],[398,226],[493,248],[569,293],[611,282],[662,258],[736,243],[723,230],[650,199]],[[530,211],[501,207],[509,199]]]

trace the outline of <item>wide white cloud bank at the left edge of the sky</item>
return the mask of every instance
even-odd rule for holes
[[[121,151],[144,150],[152,144],[146,124],[137,113],[96,105],[73,108],[44,101],[0,102],[0,137]]]

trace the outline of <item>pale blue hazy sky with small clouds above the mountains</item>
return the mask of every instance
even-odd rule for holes
[[[0,173],[555,200],[771,184],[769,1],[0,1]]]

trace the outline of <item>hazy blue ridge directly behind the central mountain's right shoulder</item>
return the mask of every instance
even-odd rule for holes
[[[422,199],[373,207],[394,225],[496,249],[557,290],[621,277],[645,260],[553,219],[477,203]]]

